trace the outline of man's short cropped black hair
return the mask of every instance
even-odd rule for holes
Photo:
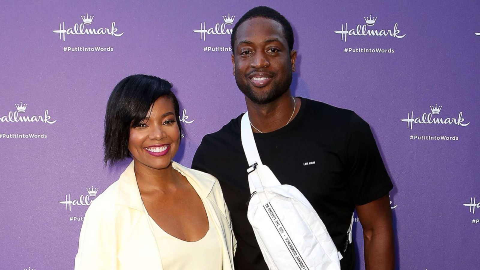
[[[285,19],[285,17],[282,14],[280,14],[279,12],[277,12],[272,8],[265,7],[265,6],[258,6],[258,7],[252,8],[247,13],[243,14],[240,20],[238,20],[237,23],[235,23],[235,26],[233,27],[233,30],[232,30],[232,35],[230,35],[230,46],[232,47],[232,54],[235,54],[235,38],[237,37],[237,28],[239,28],[240,24],[242,24],[243,22],[250,20],[252,18],[257,18],[257,17],[272,19],[277,23],[280,23],[283,27],[283,34],[287,39],[288,49],[292,51],[293,42],[294,42],[293,30],[288,20]]]

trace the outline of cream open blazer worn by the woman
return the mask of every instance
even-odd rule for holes
[[[237,243],[218,181],[214,176],[176,162],[173,168],[188,179],[204,200],[205,208],[212,213],[213,227],[223,248],[223,269],[233,270]],[[110,269],[163,270],[153,228],[138,190],[133,161],[89,206],[80,232],[75,270]]]

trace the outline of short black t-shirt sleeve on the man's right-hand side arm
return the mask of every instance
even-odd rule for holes
[[[372,130],[352,113],[346,142],[348,183],[355,205],[380,199],[393,188]]]

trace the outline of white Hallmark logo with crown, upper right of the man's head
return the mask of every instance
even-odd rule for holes
[[[347,23],[342,23],[342,30],[335,31],[336,34],[342,35],[342,40],[347,42],[348,35],[359,35],[359,36],[391,36],[396,38],[403,38],[406,34],[399,35],[400,30],[398,30],[398,23],[395,23],[393,29],[367,29],[368,26],[375,25],[378,17],[363,17],[365,24],[357,24],[356,28],[348,30]]]

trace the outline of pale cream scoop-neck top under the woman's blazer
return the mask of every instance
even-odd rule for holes
[[[195,242],[183,241],[169,235],[148,215],[164,270],[223,269],[223,251],[220,245],[220,237],[216,233],[210,217],[211,214],[206,209],[205,204],[204,208],[208,218],[208,231],[202,239]]]

